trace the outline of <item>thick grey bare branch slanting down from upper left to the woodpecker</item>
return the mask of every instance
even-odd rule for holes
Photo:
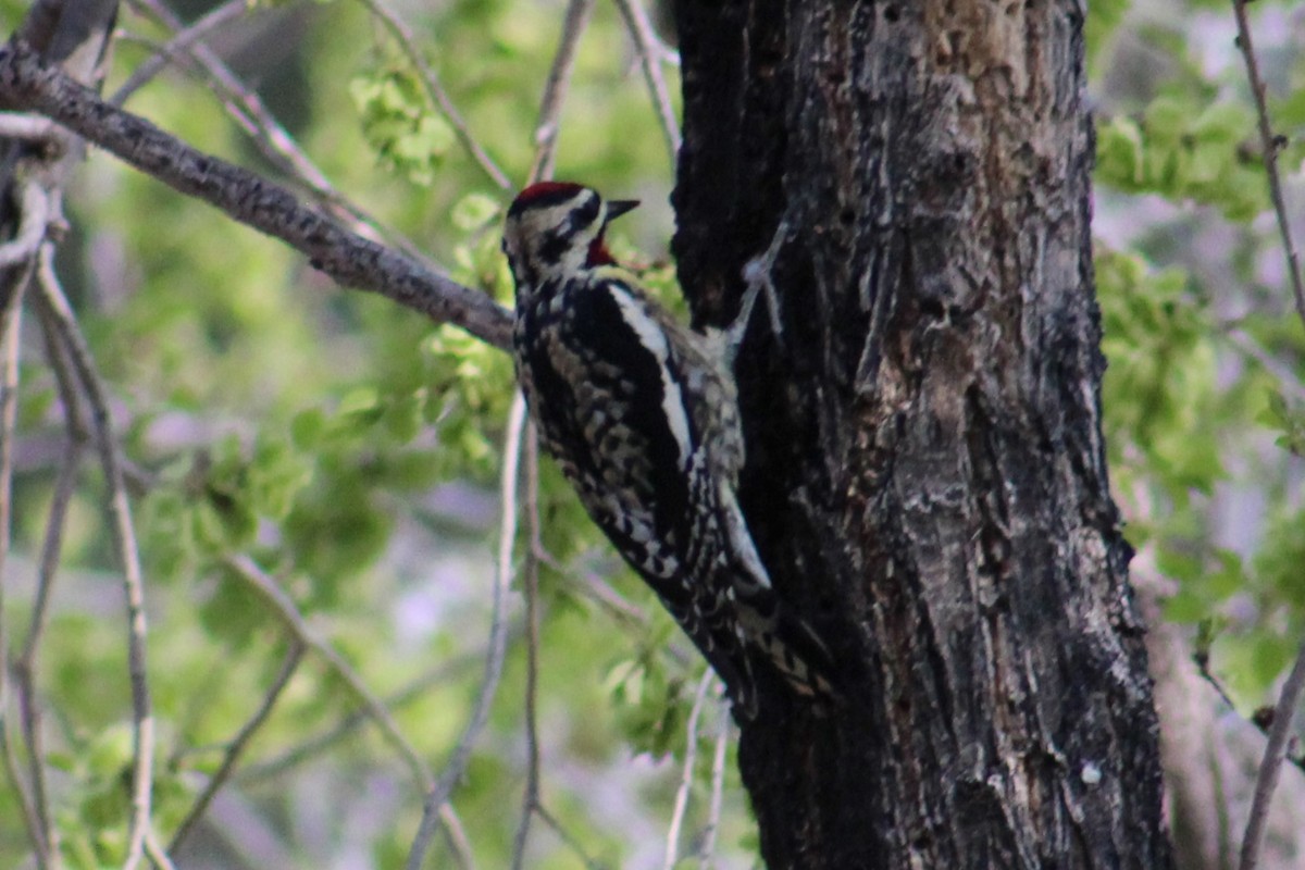
[[[428,317],[450,322],[506,348],[512,316],[487,295],[463,287],[401,253],[343,230],[286,189],[202,154],[149,121],[100,100],[63,73],[43,67],[23,44],[0,47],[0,102],[38,111],[170,187],[281,239],[345,287],[367,290]]]

